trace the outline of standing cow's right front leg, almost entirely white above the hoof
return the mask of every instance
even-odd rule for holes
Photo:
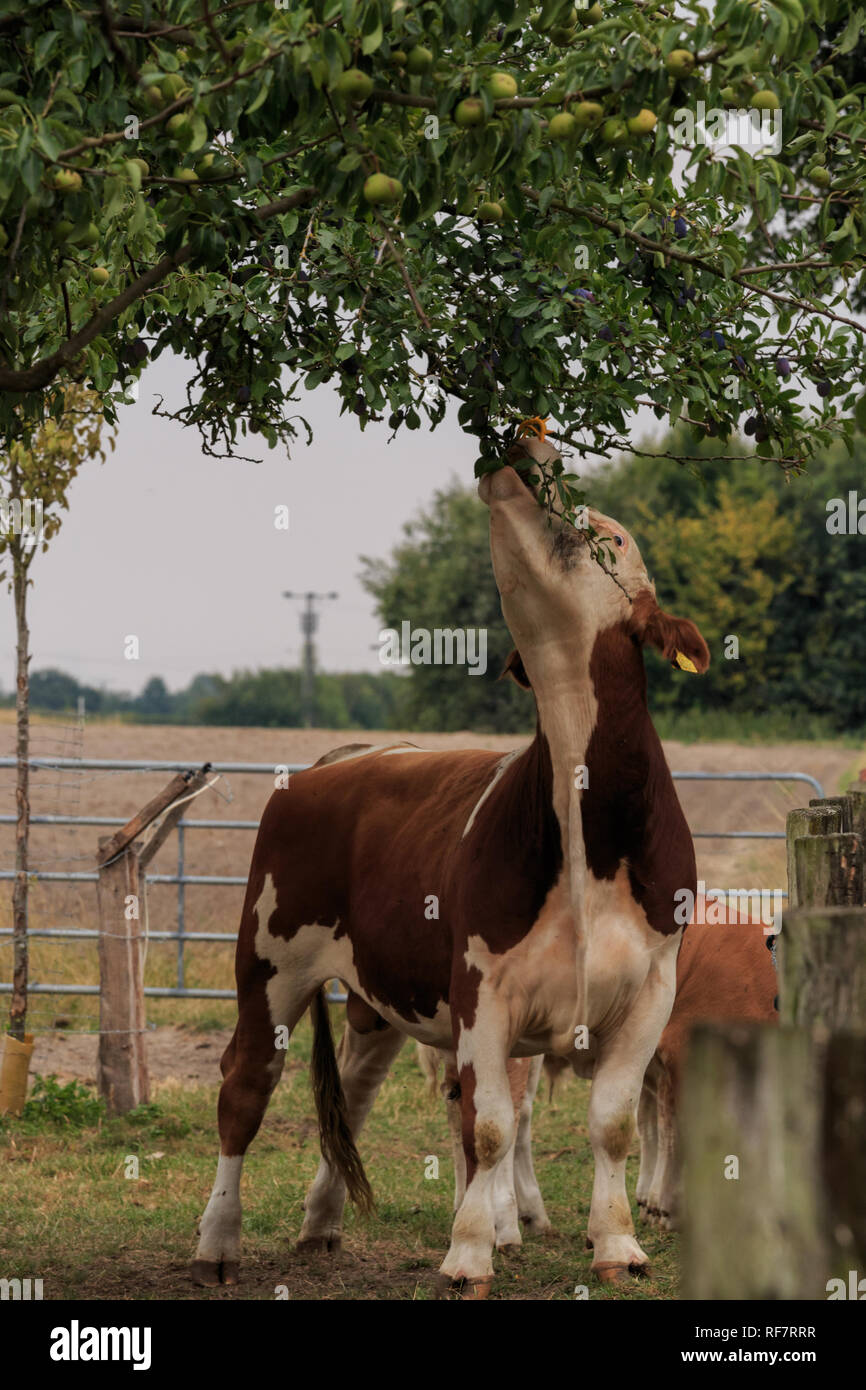
[[[592,1272],[603,1283],[649,1275],[649,1258],[634,1236],[626,1194],[626,1159],[634,1138],[644,1073],[670,1015],[673,979],[651,969],[617,1031],[602,1041],[589,1097],[589,1143],[595,1158],[588,1237]]]

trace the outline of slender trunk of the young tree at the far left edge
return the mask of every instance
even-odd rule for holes
[[[31,833],[31,706],[29,662],[31,632],[26,626],[26,575],[22,537],[11,538],[13,589],[15,596],[17,684],[15,684],[15,887],[13,890],[13,998],[10,1004],[10,1034],[24,1041],[26,1026],[28,981],[28,849]]]

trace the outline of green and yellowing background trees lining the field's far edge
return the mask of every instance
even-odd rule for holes
[[[862,489],[866,438],[826,453],[787,481],[758,460],[716,460],[703,445],[689,467],[674,431],[653,457],[635,453],[587,481],[591,505],[635,535],[659,600],[694,619],[713,663],[692,680],[646,659],[653,712],[666,734],[741,738],[749,724],[770,737],[822,737],[866,730],[866,567],[862,535],[827,530],[827,503]],[[730,453],[731,446],[726,445]],[[866,509],[865,509],[866,510]],[[866,516],[863,518],[866,528]],[[363,557],[363,582],[381,627],[474,627],[488,631],[488,670],[418,666],[407,673],[318,673],[317,724],[329,728],[524,731],[531,699],[496,677],[512,648],[489,564],[488,513],[474,488],[456,482],[405,527],[386,559]],[[724,656],[738,639],[738,659]],[[728,644],[730,645],[730,644]],[[153,677],[139,695],[35,671],[33,709],[143,723],[295,727],[303,723],[300,673],[268,669],[231,677],[196,676],[171,692]],[[11,705],[14,698],[3,696]]]

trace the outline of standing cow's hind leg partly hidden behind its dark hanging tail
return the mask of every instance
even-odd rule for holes
[[[371,1011],[373,1012],[373,1011]],[[382,1019],[366,1033],[346,1023],[339,1045],[339,1077],[346,1098],[346,1119],[353,1138],[361,1131],[378,1090],[388,1076],[391,1063],[406,1041]],[[297,1238],[297,1250],[336,1251],[341,1247],[346,1183],[327,1159],[304,1201],[304,1219]]]

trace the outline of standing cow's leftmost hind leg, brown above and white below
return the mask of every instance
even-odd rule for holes
[[[243,983],[239,979],[238,1026],[221,1061],[220,1159],[192,1266],[195,1282],[209,1287],[238,1283],[243,1156],[282,1073],[286,1049],[279,1042],[286,1041],[318,990],[318,983],[293,983],[282,972],[268,990],[271,976],[267,962],[256,959]],[[278,1037],[278,1026],[285,1026],[285,1036]]]

